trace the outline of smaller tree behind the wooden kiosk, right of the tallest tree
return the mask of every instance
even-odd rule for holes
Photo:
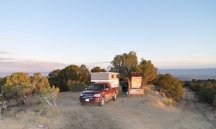
[[[143,83],[151,82],[157,78],[158,70],[154,67],[150,60],[147,61],[142,58],[139,63],[139,68],[143,76]]]

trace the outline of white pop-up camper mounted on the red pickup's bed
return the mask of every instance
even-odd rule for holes
[[[91,82],[109,82],[111,86],[119,86],[119,74],[114,72],[91,73]]]

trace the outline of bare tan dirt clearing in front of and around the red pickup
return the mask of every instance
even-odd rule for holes
[[[164,105],[158,92],[147,90],[143,97],[119,96],[103,107],[81,106],[79,93],[61,93],[60,113],[47,123],[50,129],[215,129],[215,123],[195,104],[194,95],[188,89],[185,93],[177,106]],[[0,129],[25,129],[26,121],[6,117],[0,120]]]

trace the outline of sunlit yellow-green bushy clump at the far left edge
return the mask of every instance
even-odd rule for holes
[[[59,92],[58,88],[51,87],[47,77],[35,73],[30,77],[27,73],[13,73],[5,78],[2,93],[6,100],[15,99],[18,104],[26,104],[34,94],[47,95]]]

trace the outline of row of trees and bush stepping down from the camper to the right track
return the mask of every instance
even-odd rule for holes
[[[158,75],[158,69],[152,64],[150,60],[141,59],[138,62],[138,58],[135,52],[123,53],[116,55],[111,62],[112,67],[110,71],[118,72],[120,78],[126,78],[130,76],[131,72],[137,72],[142,75],[142,85],[148,83],[154,83],[159,87],[159,90],[163,90],[166,96],[170,97],[167,103],[172,103],[171,100],[180,100],[183,95],[182,82],[177,78],[174,78],[170,74]]]

